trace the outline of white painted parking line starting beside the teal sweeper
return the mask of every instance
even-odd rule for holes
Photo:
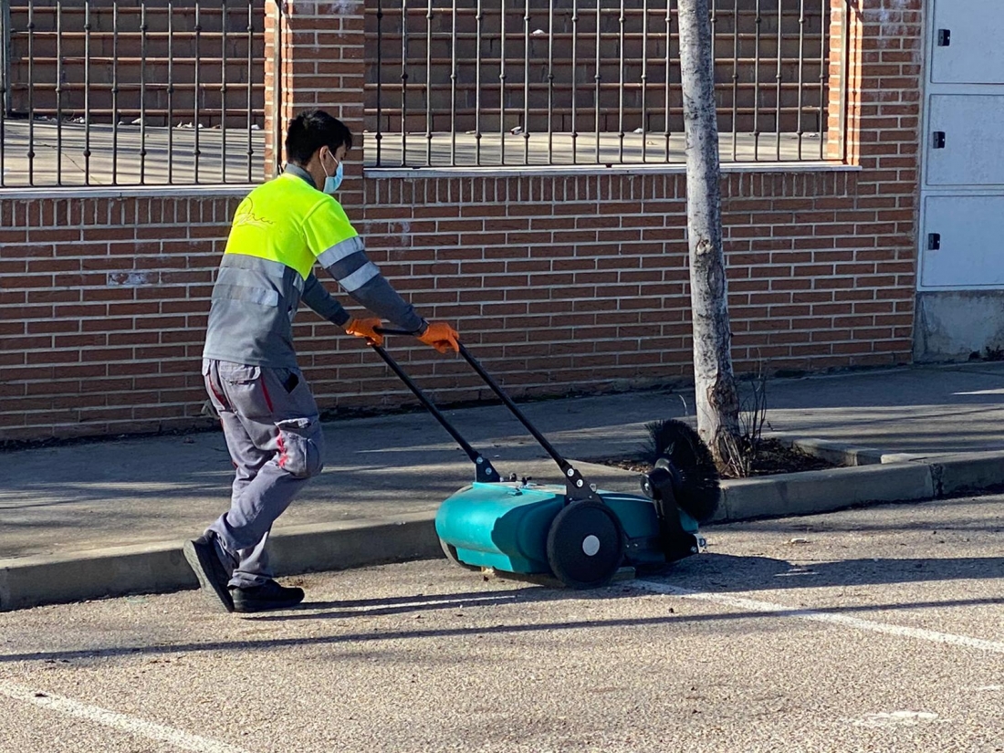
[[[964,646],[968,649],[981,649],[982,651],[991,651],[995,654],[1004,654],[1004,643],[999,641],[984,641],[979,638],[956,636],[951,633],[938,633],[936,631],[926,631],[921,628],[907,628],[901,624],[873,622],[869,619],[850,617],[846,614],[834,614],[826,611],[815,611],[813,609],[794,609],[790,606],[776,604],[770,601],[758,601],[752,598],[730,596],[725,593],[715,593],[712,591],[695,591],[690,588],[680,588],[676,585],[669,585],[668,583],[658,583],[654,580],[636,580],[635,583],[641,588],[655,591],[657,593],[666,593],[672,596],[692,598],[699,601],[714,601],[716,603],[735,606],[748,611],[776,612],[782,617],[808,619],[813,622],[832,622],[834,624],[842,624],[845,628],[853,628],[858,631],[888,633],[892,636],[916,638],[921,641],[930,641],[935,644]]]

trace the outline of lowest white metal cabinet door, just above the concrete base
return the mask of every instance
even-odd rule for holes
[[[1004,284],[1004,196],[929,196],[924,202],[920,284]]]

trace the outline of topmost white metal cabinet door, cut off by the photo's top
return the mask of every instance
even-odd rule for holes
[[[1004,83],[1002,0],[935,0],[931,80]]]

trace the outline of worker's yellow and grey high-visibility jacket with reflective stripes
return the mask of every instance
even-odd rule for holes
[[[213,287],[203,357],[296,367],[292,321],[301,300],[339,326],[349,319],[314,276],[314,262],[381,318],[409,331],[426,327],[366,258],[341,205],[290,165],[237,207]]]

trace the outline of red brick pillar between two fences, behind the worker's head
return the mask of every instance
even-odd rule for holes
[[[275,23],[280,18],[276,55]],[[354,147],[345,162],[344,203],[361,201],[362,116],[365,85],[363,0],[267,0],[265,3],[265,159],[274,166],[275,117],[285,127],[298,112],[321,107],[351,130]],[[279,95],[275,95],[276,60]],[[277,106],[278,105],[278,106]],[[281,141],[280,141],[281,143]],[[353,197],[352,194],[355,194]]]

